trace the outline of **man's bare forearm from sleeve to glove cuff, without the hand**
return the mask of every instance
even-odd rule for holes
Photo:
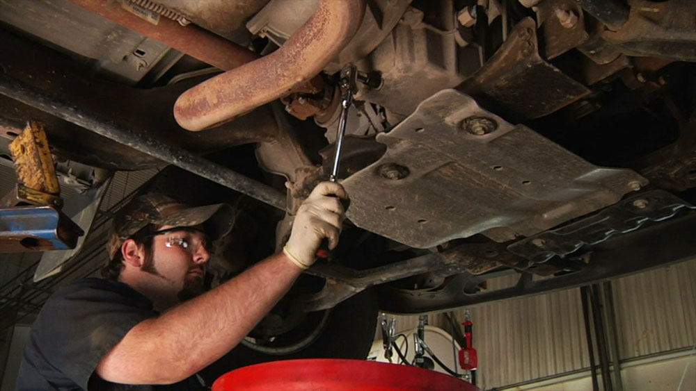
[[[283,253],[132,328],[97,367],[116,383],[173,383],[235,347],[290,289],[301,269]]]

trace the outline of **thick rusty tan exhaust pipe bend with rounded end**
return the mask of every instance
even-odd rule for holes
[[[202,131],[274,101],[313,78],[353,38],[365,0],[322,0],[280,49],[187,90],[174,104],[182,128]]]

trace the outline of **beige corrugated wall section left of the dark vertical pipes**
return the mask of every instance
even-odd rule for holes
[[[586,367],[578,289],[475,306],[479,385],[518,383]]]

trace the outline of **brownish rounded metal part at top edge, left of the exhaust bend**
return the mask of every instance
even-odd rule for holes
[[[157,0],[217,35],[231,38],[269,0]]]

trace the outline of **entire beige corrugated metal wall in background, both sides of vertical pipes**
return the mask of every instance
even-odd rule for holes
[[[489,288],[509,283],[493,281]],[[696,343],[696,260],[612,281],[621,360]],[[503,387],[590,366],[580,290],[481,304],[470,308],[478,383]],[[455,311],[464,319],[464,311]],[[397,329],[418,317],[397,317]],[[450,331],[443,315],[429,324]]]

